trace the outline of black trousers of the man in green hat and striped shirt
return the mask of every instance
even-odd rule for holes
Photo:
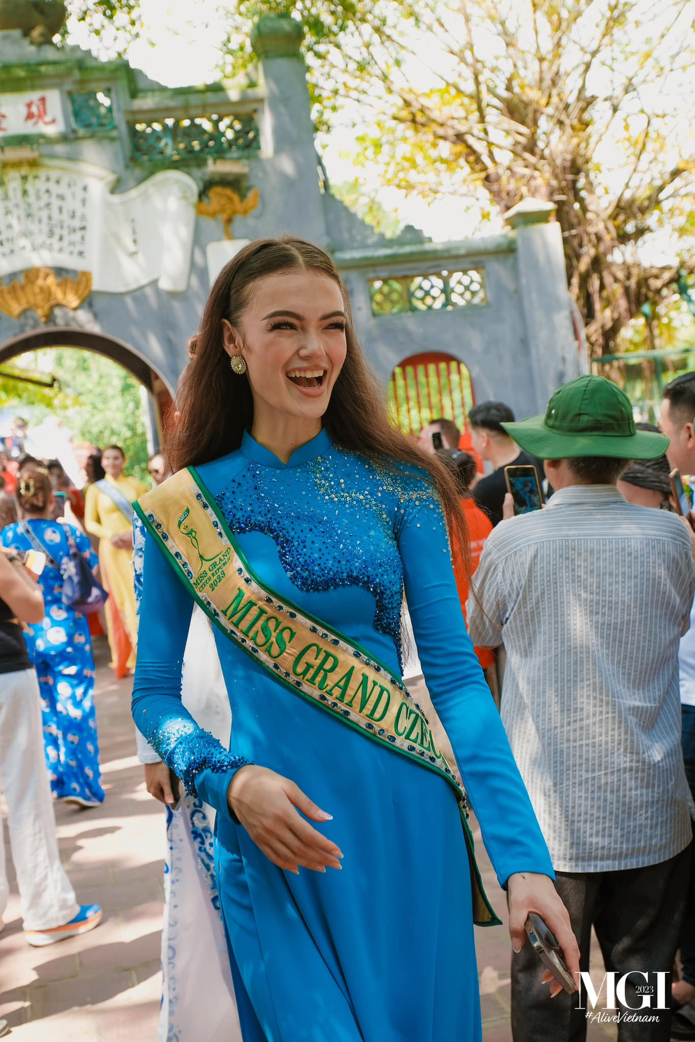
[[[690,847],[669,861],[646,868],[617,872],[557,872],[555,886],[572,922],[580,951],[580,968],[589,970],[591,928],[596,931],[607,971],[619,976],[630,970],[648,973],[630,976],[625,998],[631,1010],[642,1004],[645,985],[656,1006],[656,977],[666,972],[666,1004],[671,1001],[671,970],[680,936],[688,885]],[[512,957],[512,1034],[514,1042],[585,1042],[587,1012],[591,1003],[579,996],[562,992],[550,997],[547,985],[541,984],[541,962],[526,943]],[[596,974],[594,974],[595,976]],[[593,981],[598,991],[600,978]],[[596,1013],[603,1009],[599,999]],[[615,1015],[617,1011],[607,1011]],[[645,1009],[642,1015],[654,1016],[653,1022],[621,1021],[619,1042],[668,1042],[670,1011]]]

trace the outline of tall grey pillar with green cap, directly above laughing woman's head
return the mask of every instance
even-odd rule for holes
[[[251,32],[268,92],[260,128],[262,151],[267,155],[262,204],[276,222],[274,229],[268,229],[271,234],[295,231],[325,248],[330,244],[300,54],[303,36],[301,22],[289,15],[262,15]]]

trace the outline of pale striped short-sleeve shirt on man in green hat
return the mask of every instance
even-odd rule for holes
[[[489,537],[471,639],[504,644],[501,713],[563,872],[639,868],[692,832],[678,642],[693,602],[688,532],[612,486],[572,486]]]

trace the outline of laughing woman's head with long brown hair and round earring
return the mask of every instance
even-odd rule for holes
[[[347,450],[424,471],[460,545],[468,546],[446,468],[389,421],[382,389],[356,339],[347,291],[323,250],[294,237],[245,247],[218,276],[196,343],[167,447],[173,471],[238,448],[251,426],[263,445],[282,451],[324,427]],[[241,377],[231,359],[245,363]],[[319,388],[290,379],[291,373],[308,378],[306,370],[320,371]]]

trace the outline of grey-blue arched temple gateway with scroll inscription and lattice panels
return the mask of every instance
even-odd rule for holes
[[[46,43],[64,14],[0,0],[0,363],[88,347],[166,407],[212,279],[248,240],[293,231],[336,258],[407,429],[460,416],[467,374],[519,415],[576,375],[554,207],[526,200],[489,238],[377,234],[322,173],[299,22],[259,20],[242,80],[170,90]]]

